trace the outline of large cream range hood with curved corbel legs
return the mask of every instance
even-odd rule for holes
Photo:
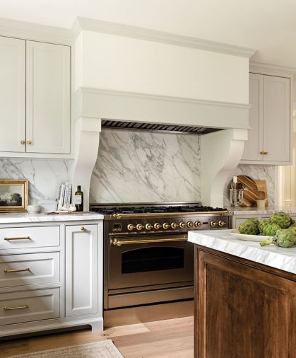
[[[223,129],[201,137],[201,200],[223,207],[225,180],[247,140],[254,52],[101,21],[76,25],[73,185],[83,186],[85,209],[100,131],[108,122]]]

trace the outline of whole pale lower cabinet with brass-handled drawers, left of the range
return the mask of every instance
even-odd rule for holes
[[[1,224],[0,337],[79,325],[103,329],[102,220]]]

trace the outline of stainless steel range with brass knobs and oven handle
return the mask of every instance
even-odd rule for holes
[[[105,216],[105,325],[193,314],[194,248],[187,231],[230,229],[230,212],[199,202],[90,208]]]

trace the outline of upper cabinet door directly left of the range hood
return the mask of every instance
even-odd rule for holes
[[[27,152],[70,153],[70,47],[27,41]]]

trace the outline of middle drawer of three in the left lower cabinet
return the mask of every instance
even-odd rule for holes
[[[0,257],[0,287],[59,282],[59,253]]]

